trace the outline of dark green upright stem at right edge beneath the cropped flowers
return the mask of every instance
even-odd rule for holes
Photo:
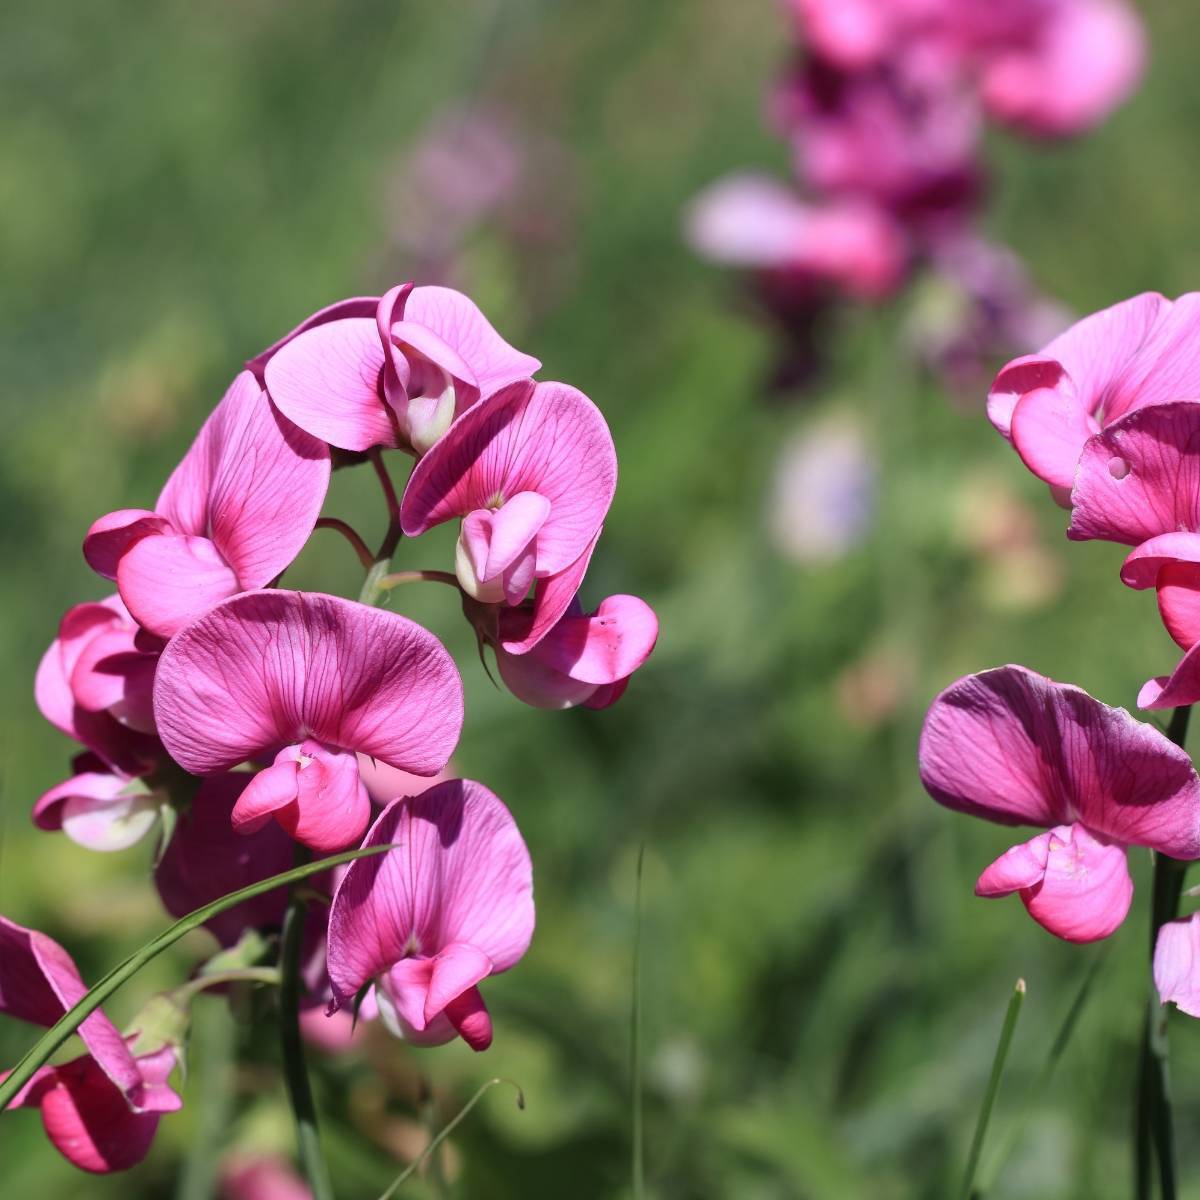
[[[1181,749],[1188,736],[1192,707],[1171,713],[1166,736]],[[1154,853],[1153,899],[1150,912],[1150,961],[1154,962],[1158,931],[1180,914],[1187,863],[1169,854]],[[1175,1129],[1171,1118],[1171,1091],[1168,1073],[1166,1008],[1158,1003],[1151,985],[1138,1069],[1138,1116],[1135,1124],[1135,1194],[1151,1195],[1151,1148],[1158,1160],[1158,1182],[1163,1200],[1176,1200]]]

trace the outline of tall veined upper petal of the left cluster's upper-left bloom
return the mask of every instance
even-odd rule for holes
[[[281,416],[242,371],[167,480],[157,509],[179,533],[211,538],[239,589],[260,588],[308,540],[329,473],[329,448]]]

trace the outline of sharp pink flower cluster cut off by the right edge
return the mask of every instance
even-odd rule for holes
[[[1138,707],[1170,709],[1170,737],[1024,667],[952,684],[920,739],[922,780],[948,808],[1043,829],[989,866],[978,895],[1016,893],[1068,941],[1108,937],[1129,910],[1127,848],[1157,870],[1200,858],[1200,781],[1183,739],[1200,701],[1200,294],[1147,293],[1078,322],[996,377],[988,415],[1069,509],[1067,536],[1128,547],[1120,569],[1153,589],[1183,652]],[[1200,913],[1156,922],[1162,1002],[1200,1016]]]

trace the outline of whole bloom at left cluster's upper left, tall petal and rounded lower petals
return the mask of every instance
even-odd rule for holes
[[[89,564],[133,617],[170,637],[238,592],[270,583],[304,548],[329,487],[329,448],[281,416],[248,371],[234,379],[167,480],[154,512],[96,521]]]

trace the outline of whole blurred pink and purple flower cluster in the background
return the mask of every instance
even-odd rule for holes
[[[744,173],[694,202],[703,257],[750,272],[790,340],[830,299],[877,302],[918,265],[946,277],[983,350],[1028,344],[1006,281],[955,264],[995,257],[972,229],[988,119],[1080,134],[1136,85],[1140,22],[1124,0],[785,0],[797,38],[768,98],[794,180]],[[965,288],[964,288],[965,286]],[[961,290],[961,295],[958,293]],[[1020,308],[1040,301],[1022,282]],[[1018,341],[1013,341],[1013,338]]]

